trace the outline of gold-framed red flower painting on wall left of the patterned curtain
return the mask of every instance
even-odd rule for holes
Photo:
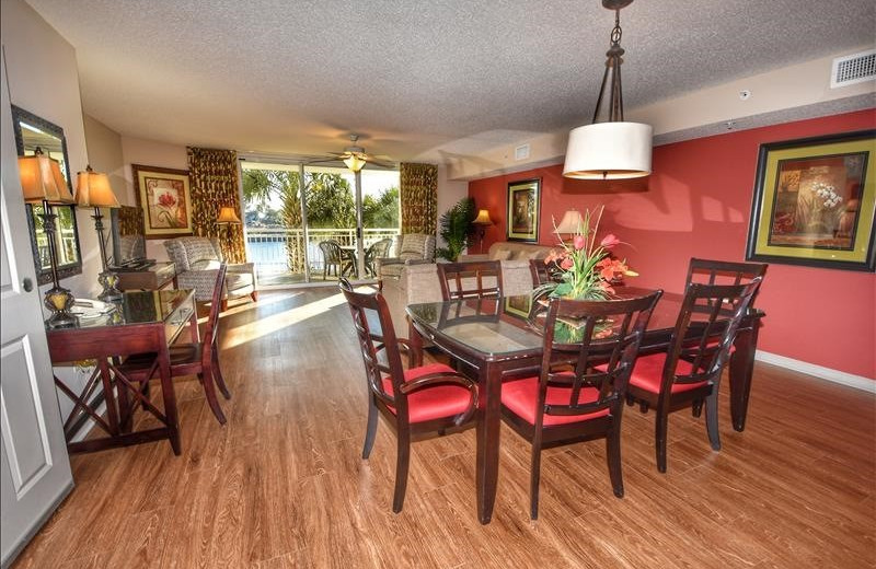
[[[131,164],[134,194],[143,210],[146,239],[192,234],[188,172]]]

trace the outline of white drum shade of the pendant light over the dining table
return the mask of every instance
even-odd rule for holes
[[[568,135],[563,175],[580,179],[623,179],[650,174],[654,129],[641,123],[595,123]]]

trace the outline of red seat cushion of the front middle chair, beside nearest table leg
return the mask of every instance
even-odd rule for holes
[[[549,405],[568,405],[570,392],[572,388],[569,387],[548,386],[548,394],[544,400]],[[502,386],[502,404],[530,425],[535,425],[535,406],[538,404],[538,378],[512,381]],[[578,396],[578,403],[592,403],[598,398],[599,390],[595,387],[584,387]],[[601,409],[585,415],[545,415],[543,425],[545,427],[552,427],[555,425],[580,422],[596,419],[597,417],[604,417],[608,414],[608,409]]]

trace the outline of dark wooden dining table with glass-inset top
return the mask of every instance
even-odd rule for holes
[[[618,297],[644,295],[653,290],[624,287]],[[639,355],[666,350],[683,295],[664,293],[643,335]],[[475,420],[475,486],[477,516],[489,523],[496,498],[502,427],[502,385],[540,373],[543,335],[532,317],[532,297],[494,297],[425,302],[406,307],[410,322],[412,364],[423,362],[424,342],[429,342],[475,375],[479,402]],[[737,332],[729,360],[730,416],[733,427],[746,425],[758,328],[764,313],[749,309]]]

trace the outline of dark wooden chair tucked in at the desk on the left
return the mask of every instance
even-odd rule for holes
[[[226,423],[226,416],[219,399],[216,397],[214,383],[219,387],[226,399],[231,398],[222,371],[219,367],[219,312],[222,305],[222,288],[226,280],[228,265],[222,263],[216,274],[214,293],[210,301],[210,313],[200,341],[189,344],[174,344],[170,347],[171,376],[197,375],[204,386],[204,395],[216,419]],[[157,371],[155,355],[141,353],[126,359],[119,369],[129,378],[139,381],[143,392],[149,393],[149,381]]]

